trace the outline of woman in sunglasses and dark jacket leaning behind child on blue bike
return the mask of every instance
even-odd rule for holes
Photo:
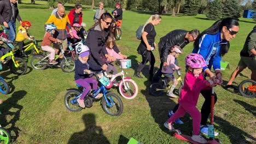
[[[112,15],[103,13],[100,20],[89,29],[85,43],[91,52],[89,61],[94,65],[101,65],[103,70],[107,70],[107,64],[101,59],[102,54],[109,61],[115,61],[115,58],[110,57],[106,50],[106,40],[110,32],[111,23]]]

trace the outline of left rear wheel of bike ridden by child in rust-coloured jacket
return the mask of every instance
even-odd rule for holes
[[[42,55],[34,55],[31,58],[31,66],[33,69],[43,70],[47,67],[48,59],[44,59]]]

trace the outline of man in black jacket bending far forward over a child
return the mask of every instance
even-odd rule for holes
[[[189,42],[195,41],[197,36],[200,34],[199,30],[193,29],[192,31],[185,31],[182,29],[176,29],[166,34],[164,37],[160,38],[158,43],[158,50],[161,59],[161,64],[158,72],[154,75],[153,83],[158,82],[162,75],[162,67],[164,69],[167,66],[167,56],[174,45],[180,46],[182,49]],[[178,65],[177,59],[175,59],[175,64]]]

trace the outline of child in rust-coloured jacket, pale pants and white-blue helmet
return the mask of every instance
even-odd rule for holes
[[[42,41],[42,50],[50,52],[49,55],[49,64],[57,64],[58,62],[54,61],[55,58],[55,50],[51,47],[51,43],[61,43],[59,39],[55,39],[53,34],[55,33],[55,29],[57,27],[53,25],[53,23],[48,23],[45,25],[45,34],[44,39]]]

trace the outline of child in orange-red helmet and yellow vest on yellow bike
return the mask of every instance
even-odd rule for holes
[[[30,27],[31,23],[29,21],[22,21],[21,26],[18,27],[18,33],[15,40],[17,41],[19,46],[20,56],[28,57],[25,51],[22,50],[24,46],[24,40],[28,39],[34,41],[34,37],[27,34],[27,31],[28,29],[30,29]]]

